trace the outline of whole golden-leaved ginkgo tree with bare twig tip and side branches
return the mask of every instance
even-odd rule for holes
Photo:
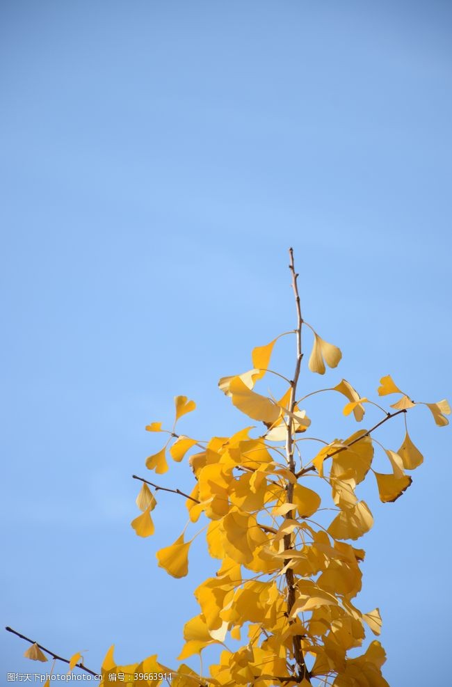
[[[182,418],[195,410],[195,402],[185,396],[175,398],[171,428],[159,421],[146,427],[161,436],[163,444],[146,459],[148,470],[161,475],[169,470],[170,461],[186,461],[193,471],[193,489],[184,493],[157,484],[155,477],[134,475],[142,486],[136,499],[140,514],[131,526],[136,535],[149,537],[154,533],[152,511],[159,507],[156,492],[182,497],[184,501],[179,499],[179,503],[185,505],[189,524],[203,521],[201,531],[211,558],[218,560],[218,571],[194,590],[199,613],[184,626],[184,642],[175,665],[163,665],[156,655],[140,663],[117,665],[111,647],[102,665],[102,684],[388,684],[382,677],[385,651],[380,642],[373,639],[365,650],[357,652],[366,632],[379,635],[382,626],[378,608],[363,612],[353,603],[362,588],[364,550],[350,542],[356,542],[373,526],[369,505],[359,498],[357,487],[364,480],[373,480],[383,503],[399,498],[412,482],[407,471],[423,461],[408,434],[409,413],[425,406],[442,427],[449,424],[446,416],[451,409],[446,400],[414,402],[389,375],[382,377],[378,388],[378,396],[395,398],[388,409],[361,397],[345,379],[303,395],[298,384],[305,361],[302,332],[308,330],[313,335],[307,367],[314,374],[324,374],[327,366],[336,368],[341,351],[303,319],[292,249],[289,254],[296,328],[255,348],[250,370],[219,381],[220,390],[246,417],[245,427],[232,436],[212,436],[209,441],[179,433]],[[292,337],[295,343],[290,377],[271,368],[273,349],[283,336]],[[264,375],[271,374],[285,385],[278,398],[255,390]],[[309,397],[332,392],[344,397],[343,413],[353,413],[357,423],[363,422],[369,404],[382,412],[381,419],[344,439],[314,437]],[[401,445],[396,450],[394,446],[383,448],[376,439],[378,429],[397,416],[404,420]],[[308,448],[318,445],[320,450]],[[373,467],[376,452],[385,459],[384,471]],[[176,496],[168,494],[165,498]],[[159,566],[175,578],[188,573],[193,542],[189,537],[184,528],[175,542],[156,554]],[[229,641],[234,648],[228,648],[229,639],[234,640]],[[186,664],[215,645],[218,661],[207,668],[208,672],[201,669],[202,674],[198,673]],[[42,660],[36,655],[39,645],[33,644],[29,653],[33,652],[30,658]],[[72,656],[70,670],[80,658],[80,653]],[[86,670],[83,663],[78,665]]]

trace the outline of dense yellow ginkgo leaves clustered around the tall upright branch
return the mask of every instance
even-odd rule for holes
[[[298,636],[304,656],[311,656],[305,684],[312,684],[314,677],[335,675],[334,685],[338,687],[361,684],[385,687],[387,683],[380,671],[385,653],[378,642],[371,642],[358,658],[347,657],[350,649],[362,645],[365,626],[380,634],[381,617],[378,608],[363,614],[352,603],[361,590],[360,562],[364,560],[364,551],[344,540],[362,537],[373,525],[369,507],[356,494],[357,486],[369,471],[376,477],[380,499],[393,501],[411,483],[405,470],[416,468],[423,458],[408,432],[397,452],[386,450],[391,466],[387,474],[373,471],[374,448],[369,430],[362,429],[347,439],[328,443],[312,459],[312,466],[319,477],[330,483],[337,513],[328,528],[316,528],[312,517],[321,506],[320,496],[300,482],[300,475],[289,470],[284,460],[284,445],[274,445],[284,442],[288,431],[296,442],[297,435],[307,431],[310,421],[296,402],[291,405],[290,386],[280,400],[254,390],[256,382],[269,371],[276,341],[254,349],[251,370],[223,377],[219,382],[220,389],[237,409],[266,425],[262,436],[250,436],[252,427],[245,427],[231,437],[213,437],[204,445],[172,433],[176,440],[170,445],[169,453],[175,461],[181,461],[196,447],[196,452],[191,452],[189,457],[196,482],[186,500],[186,508],[193,523],[202,514],[207,517],[209,553],[221,561],[216,576],[195,590],[200,613],[184,627],[185,644],[178,658],[184,661],[200,654],[207,646],[222,645],[228,633],[240,640],[245,632],[248,643],[236,652],[223,651],[220,662],[211,665],[208,679],[195,677],[200,680],[198,684],[224,687],[300,684],[290,679],[293,638]],[[337,347],[314,333],[309,359],[312,371],[323,374],[325,363],[334,368],[340,358]],[[345,379],[332,390],[348,401],[344,415],[353,413],[360,422],[364,418],[364,404],[369,400],[360,397]],[[382,378],[379,393],[402,394],[401,402],[392,406],[396,411],[414,406],[390,377]],[[194,407],[186,397],[178,398],[184,401],[176,399],[176,406],[186,408],[192,404]],[[448,413],[446,402],[427,405],[434,415]],[[163,431],[161,423],[152,423],[147,429]],[[148,468],[157,473],[168,469],[167,447],[168,443],[147,459]],[[145,484],[137,503],[142,515],[132,526],[138,535],[147,536],[154,530],[150,510],[155,500]],[[184,535],[178,537],[157,552],[159,565],[176,578],[185,576],[190,544]],[[295,592],[289,609],[288,571]]]

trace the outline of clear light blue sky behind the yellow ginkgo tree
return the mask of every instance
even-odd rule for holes
[[[290,245],[344,352],[328,382],[451,397],[451,21],[439,0],[1,3],[3,625],[95,670],[113,642],[175,663],[213,567],[202,542],[188,578],[156,567],[184,504],[159,496],[139,539],[131,474],[176,394],[186,433],[243,424],[216,383],[293,328]],[[426,461],[394,504],[369,489],[361,540],[392,687],[450,674],[451,435],[426,409],[410,428]],[[3,673],[41,670],[0,647]]]

